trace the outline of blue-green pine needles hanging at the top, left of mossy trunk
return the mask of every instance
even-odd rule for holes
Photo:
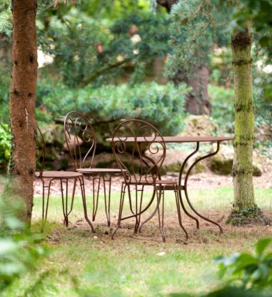
[[[229,39],[222,26],[213,20],[211,1],[179,1],[171,10],[167,74],[170,77],[193,75],[195,67],[208,66],[213,44]],[[182,65],[182,66],[181,66]]]

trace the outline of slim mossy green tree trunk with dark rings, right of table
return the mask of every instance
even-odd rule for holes
[[[234,70],[235,131],[234,163],[234,211],[229,217],[232,224],[248,224],[267,219],[257,208],[252,182],[252,151],[254,140],[254,105],[252,100],[250,24],[244,31],[232,34],[232,57]]]

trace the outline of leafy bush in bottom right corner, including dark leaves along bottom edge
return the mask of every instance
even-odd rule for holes
[[[234,253],[215,259],[219,264],[219,276],[231,275],[229,283],[222,289],[201,297],[271,297],[272,292],[272,252],[265,253],[272,238],[263,238],[256,244],[255,255]],[[171,297],[195,297],[191,294],[176,293]]]

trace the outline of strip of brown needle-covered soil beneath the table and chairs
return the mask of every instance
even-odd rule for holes
[[[148,246],[163,246],[173,247],[181,245],[184,248],[197,247],[203,244],[205,247],[209,246],[229,246],[230,252],[232,250],[239,250],[243,248],[243,242],[258,238],[272,237],[272,226],[254,226],[247,225],[246,227],[230,226],[225,224],[228,213],[225,211],[204,212],[206,217],[213,219],[220,223],[224,233],[220,234],[218,226],[210,224],[202,219],[199,219],[200,229],[195,226],[195,221],[192,221],[186,215],[183,215],[183,226],[189,234],[188,240],[179,226],[177,217],[165,217],[165,235],[166,245],[162,242],[160,231],[158,229],[158,217],[153,217],[151,221],[144,224],[141,233],[134,234],[135,219],[128,219],[121,224],[114,240],[111,239],[111,233],[116,226],[116,217],[112,218],[112,228],[108,228],[105,224],[96,224],[94,226],[96,233],[92,233],[89,225],[80,219],[75,223],[69,225],[68,229],[56,229],[48,236],[48,242],[51,245],[65,244],[68,237],[74,238],[75,241],[93,240],[97,242],[100,248],[107,248],[109,246],[122,246],[125,248],[126,244],[137,243]],[[265,212],[265,215],[272,219],[272,211]],[[98,221],[99,222],[99,221]]]

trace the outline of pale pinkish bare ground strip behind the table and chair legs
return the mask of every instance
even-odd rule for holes
[[[162,177],[164,180],[178,180],[179,174],[172,173],[168,175],[164,175]],[[260,177],[254,177],[254,185],[259,188],[271,188],[272,187],[272,173],[264,173]],[[85,189],[86,194],[91,194],[93,188],[93,182],[91,178],[85,177]],[[112,191],[119,192],[121,189],[121,182],[123,181],[122,176],[114,176],[112,177]],[[41,196],[42,195],[42,187],[40,180],[35,180],[34,182],[34,195]],[[195,175],[190,175],[188,179],[188,187],[191,189],[215,189],[218,187],[232,187],[232,177],[228,175],[216,175],[211,171],[205,173],[197,173]],[[107,190],[109,189],[108,183],[106,184]],[[69,193],[72,193],[73,190],[73,182],[69,184]],[[100,190],[102,191],[102,184],[100,184]],[[79,193],[79,192],[78,192]],[[58,181],[54,181],[52,183],[52,188],[50,191],[52,195],[60,194],[60,184]]]

